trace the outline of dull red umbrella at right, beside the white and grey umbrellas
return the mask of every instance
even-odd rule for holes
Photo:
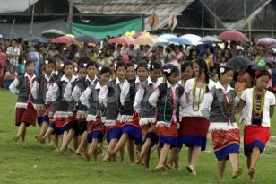
[[[220,40],[226,41],[247,41],[246,35],[240,31],[224,31],[218,36]]]

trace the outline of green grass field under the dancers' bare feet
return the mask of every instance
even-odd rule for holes
[[[83,157],[73,157],[72,153],[61,155],[55,153],[53,147],[39,145],[34,135],[39,127],[28,127],[27,147],[13,142],[17,131],[14,126],[14,104],[16,96],[8,91],[0,90],[0,184],[35,183],[35,184],[67,184],[67,183],[218,183],[217,167],[210,138],[208,149],[201,154],[197,167],[197,177],[185,171],[186,148],[181,151],[180,171],[170,170],[167,176],[160,175],[154,168],[158,162],[157,153],[152,153],[151,169],[143,170],[142,166],[123,165],[117,159],[114,163],[98,161],[87,162]],[[276,116],[272,118],[272,140],[261,155],[257,165],[257,183],[275,183],[276,180]],[[246,171],[246,157],[241,154],[239,163],[244,174],[231,179],[228,162],[225,172],[226,183],[249,183]],[[125,153],[125,158],[128,158]],[[274,174],[273,174],[274,173]]]

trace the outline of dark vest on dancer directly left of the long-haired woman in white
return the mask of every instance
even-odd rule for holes
[[[157,121],[164,121],[171,123],[173,121],[173,98],[171,88],[168,89],[167,83],[160,83],[158,86],[160,90],[160,96],[157,101]],[[177,121],[179,122],[179,107],[180,107],[180,98],[184,92],[184,88],[179,85],[176,88],[177,96]]]

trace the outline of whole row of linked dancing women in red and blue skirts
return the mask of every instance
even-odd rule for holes
[[[103,162],[115,161],[116,153],[125,162],[127,143],[130,163],[149,168],[151,152],[156,148],[156,170],[164,174],[170,167],[179,168],[179,152],[185,145],[186,170],[195,176],[210,132],[218,178],[223,182],[227,160],[233,179],[243,173],[238,164],[240,131],[235,119],[235,114],[241,113],[248,175],[255,181],[256,163],[269,140],[275,106],[274,95],[266,90],[271,79],[266,70],[256,71],[254,87],[237,96],[229,84],[233,68],[221,66],[215,83],[202,59],[185,62],[181,71],[158,62],[134,65],[116,61],[112,68],[93,62],[75,67],[66,62],[59,75],[53,72],[54,63],[49,59],[39,76],[34,74],[32,61],[25,65],[26,73],[10,86],[18,95],[15,142],[21,139],[25,145],[26,127],[38,121],[36,139],[45,144],[54,137],[60,153],[73,142],[71,149],[76,155],[97,159],[107,140]]]

